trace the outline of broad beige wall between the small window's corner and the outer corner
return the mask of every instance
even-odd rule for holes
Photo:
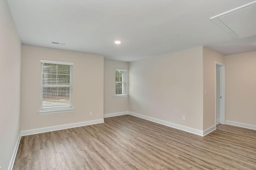
[[[202,130],[202,57],[197,47],[131,62],[129,111]]]

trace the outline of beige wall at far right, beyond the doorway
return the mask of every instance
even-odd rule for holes
[[[226,120],[256,125],[256,51],[224,58]]]

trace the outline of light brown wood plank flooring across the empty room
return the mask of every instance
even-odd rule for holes
[[[256,170],[256,131],[200,137],[131,115],[21,138],[14,170]]]

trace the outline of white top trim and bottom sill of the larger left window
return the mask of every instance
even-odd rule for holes
[[[71,66],[74,65],[74,63],[70,63],[70,62],[49,61],[49,60],[40,60],[40,63],[64,64],[64,65],[71,65]],[[49,115],[49,114],[56,114],[56,113],[68,113],[68,112],[73,112],[74,110],[75,110],[75,108],[72,107],[72,108],[68,108],[68,109],[38,111],[37,113],[38,113],[38,115]]]

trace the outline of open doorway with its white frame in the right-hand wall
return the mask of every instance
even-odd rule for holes
[[[226,124],[225,64],[215,62],[215,125]]]

